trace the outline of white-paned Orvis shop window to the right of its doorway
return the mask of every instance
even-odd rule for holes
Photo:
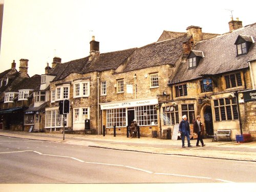
[[[157,125],[157,111],[154,105],[137,106],[136,119],[139,125]]]

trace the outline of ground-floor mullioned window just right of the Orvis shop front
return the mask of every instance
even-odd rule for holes
[[[163,124],[170,125],[179,123],[178,105],[163,107]]]

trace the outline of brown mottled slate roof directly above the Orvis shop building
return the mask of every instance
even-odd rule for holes
[[[189,38],[185,34],[178,38],[154,42],[136,49],[130,56],[123,72],[161,65],[175,65],[183,53],[183,42],[188,41]]]

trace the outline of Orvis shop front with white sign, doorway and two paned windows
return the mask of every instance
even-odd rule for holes
[[[140,135],[151,136],[153,131],[159,132],[157,106],[155,97],[100,103],[102,125],[106,127],[106,134],[112,134],[116,126],[117,134],[126,135],[126,126],[136,119]]]

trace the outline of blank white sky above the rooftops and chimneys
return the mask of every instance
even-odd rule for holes
[[[0,0],[0,3],[3,0]],[[92,35],[100,53],[143,47],[157,41],[163,30],[229,31],[231,11],[243,26],[256,23],[251,0],[5,0],[0,73],[13,60],[29,59],[28,73],[44,74],[53,57],[62,62],[89,55]]]

